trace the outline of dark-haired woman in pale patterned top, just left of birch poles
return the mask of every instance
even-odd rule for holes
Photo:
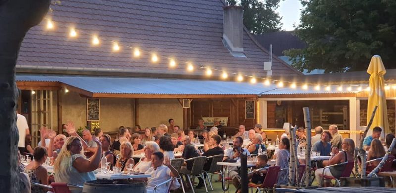
[[[290,158],[290,141],[287,138],[282,138],[279,145],[279,151],[276,154],[276,166],[281,169],[288,168],[280,171],[278,174],[278,184],[287,184],[289,178],[289,158]]]

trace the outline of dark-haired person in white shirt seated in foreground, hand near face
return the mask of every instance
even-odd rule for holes
[[[165,159],[164,162],[164,154],[160,151],[154,152],[151,155],[152,159],[152,167],[148,169],[145,174],[151,175],[151,178],[147,180],[147,193],[154,192],[154,187],[157,184],[160,184],[171,177],[179,176],[179,172],[170,164],[169,159]],[[162,165],[164,163],[164,165]],[[175,180],[173,183],[176,183],[176,187],[178,187],[178,181]],[[157,193],[165,193],[167,190],[167,186],[163,185],[157,188]]]

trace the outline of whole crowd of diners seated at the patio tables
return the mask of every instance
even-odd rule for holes
[[[200,121],[202,122],[202,121]],[[113,141],[111,136],[104,134],[97,128],[95,131],[84,130],[82,136],[76,132],[73,122],[64,124],[68,137],[58,134],[50,129],[43,127],[40,130],[41,140],[38,146],[33,149],[33,161],[28,165],[21,165],[20,170],[27,174],[31,182],[49,185],[51,182],[64,182],[74,185],[83,185],[86,181],[95,180],[94,171],[101,167],[102,154],[110,163],[110,169],[119,169],[123,172],[128,170],[127,165],[133,164],[135,172],[146,173],[151,175],[147,179],[147,190],[150,192],[159,182],[163,182],[170,177],[177,177],[180,174],[189,174],[193,167],[193,161],[186,161],[177,171],[171,164],[170,160],[175,159],[175,153],[181,152],[181,158],[190,159],[198,156],[223,155],[225,162],[238,162],[241,153],[246,153],[248,157],[257,156],[256,169],[249,174],[251,182],[263,182],[266,170],[260,168],[267,167],[269,157],[260,152],[266,152],[267,146],[264,144],[267,138],[262,126],[256,124],[253,129],[246,131],[244,125],[238,127],[238,132],[232,136],[232,147],[226,148],[222,144],[222,138],[218,135],[218,127],[207,128],[199,124],[196,130],[184,130],[174,125],[174,120],[169,119],[169,126],[161,124],[158,127],[146,127],[140,130],[136,127],[134,131],[131,128],[119,127],[117,138]],[[26,126],[22,126],[24,128]],[[169,130],[171,128],[171,130]],[[144,131],[137,133],[136,131]],[[27,133],[27,131],[25,131]],[[364,148],[368,151],[368,160],[384,156],[385,150],[380,140],[381,128],[375,127],[373,134],[364,139]],[[386,145],[389,147],[391,141],[395,138],[393,134],[386,136]],[[290,134],[288,131],[281,136],[279,144],[275,150],[273,159],[276,159],[275,165],[280,168],[289,168],[290,158]],[[296,139],[300,146],[306,145],[305,130],[299,128],[296,132]],[[315,135],[311,139],[312,151],[320,152],[320,155],[331,156],[329,160],[316,162],[318,169],[315,171],[316,180],[321,182],[321,174],[338,177],[344,170],[343,167],[335,167],[324,170],[328,165],[353,161],[353,150],[355,143],[349,138],[343,139],[338,133],[336,125],[330,125],[329,130],[323,130],[322,127],[315,128]],[[201,150],[193,143],[203,144]],[[22,153],[30,152],[20,148]],[[262,151],[259,152],[259,149]],[[143,158],[136,158],[134,154],[144,154]],[[396,155],[396,149],[392,151]],[[51,157],[54,165],[54,175],[48,175],[43,164]],[[304,160],[302,160],[303,162]],[[374,166],[379,162],[373,162]],[[210,169],[211,160],[207,160],[203,169]],[[324,170],[324,171],[323,171]],[[289,170],[282,170],[278,174],[278,184],[288,182]],[[236,188],[240,186],[240,177],[237,167],[229,167],[226,174]],[[183,175],[182,175],[183,176]],[[206,176],[204,176],[206,178]],[[187,176],[181,183],[187,182]],[[204,186],[204,179],[198,178],[199,183],[195,188]],[[186,188],[189,187],[186,183]],[[46,192],[41,187],[32,186],[32,192]],[[80,192],[81,189],[72,188],[72,192]]]

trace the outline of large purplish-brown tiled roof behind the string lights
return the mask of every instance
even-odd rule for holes
[[[263,62],[269,60],[268,52],[247,29],[243,42],[246,58],[233,57],[224,47],[223,6],[222,0],[61,0],[61,5],[51,5],[53,12],[48,13],[55,30],[45,30],[44,20],[28,32],[17,69],[39,66],[175,76],[187,73],[185,63],[169,69],[169,61],[162,55],[192,62],[196,68],[206,65],[265,76]],[[70,26],[76,27],[77,38],[68,37]],[[91,46],[91,34],[98,34],[99,46]],[[119,42],[121,50],[112,52],[110,41]],[[155,52],[160,61],[152,64],[148,53],[132,58],[132,49],[125,45]],[[300,75],[276,57],[272,69],[275,76]],[[201,75],[203,71],[192,74]]]

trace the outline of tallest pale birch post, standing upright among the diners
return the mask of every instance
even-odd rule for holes
[[[306,164],[306,170],[305,170],[305,184],[309,185],[309,182],[311,181],[311,117],[309,114],[309,108],[304,107],[302,108],[304,111],[304,121],[305,121],[305,128],[306,128],[306,149],[305,149],[305,164]]]

